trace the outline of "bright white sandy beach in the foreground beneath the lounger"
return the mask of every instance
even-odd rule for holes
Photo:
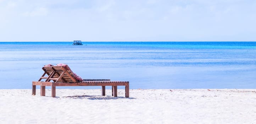
[[[255,124],[255,89],[0,90],[0,124]]]

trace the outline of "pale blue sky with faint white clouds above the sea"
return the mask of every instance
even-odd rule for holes
[[[256,0],[0,0],[0,41],[256,41]]]

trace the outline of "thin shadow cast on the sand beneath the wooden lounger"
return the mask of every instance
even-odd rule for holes
[[[89,100],[117,100],[119,98],[125,99],[136,99],[136,98],[126,98],[126,97],[113,97],[113,96],[89,96],[89,95],[82,95],[82,96],[63,96],[62,98],[79,98],[79,99],[89,99]]]

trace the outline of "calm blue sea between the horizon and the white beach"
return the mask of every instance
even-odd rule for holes
[[[256,42],[83,44],[0,42],[0,89],[31,89],[45,64],[58,63],[84,79],[130,81],[130,89],[256,89]]]

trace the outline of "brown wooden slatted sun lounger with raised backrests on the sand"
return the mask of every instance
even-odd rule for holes
[[[101,86],[102,96],[105,96],[105,86],[112,86],[112,96],[117,97],[117,86],[125,86],[125,97],[129,97],[129,81],[110,81],[109,79],[77,81],[63,66],[43,67],[42,69],[44,74],[41,78],[38,81],[32,81],[32,95],[35,95],[37,85],[41,86],[41,96],[45,96],[45,86],[51,86],[52,97],[56,96],[56,86]],[[42,79],[45,81],[41,81]]]

